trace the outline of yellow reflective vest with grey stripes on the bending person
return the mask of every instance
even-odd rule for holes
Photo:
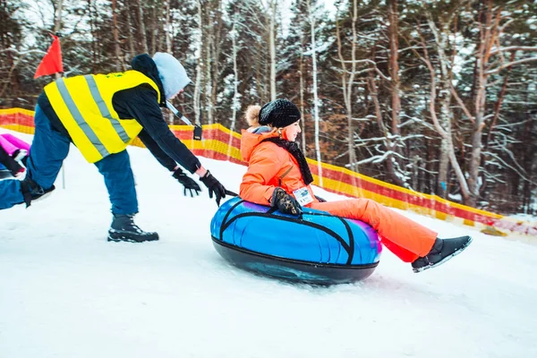
[[[56,115],[72,142],[90,163],[127,148],[141,132],[135,119],[119,119],[112,106],[115,92],[148,83],[158,94],[155,81],[138,71],[88,74],[61,78],[45,86]]]

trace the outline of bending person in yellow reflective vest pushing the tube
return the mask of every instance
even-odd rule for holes
[[[23,202],[30,206],[32,200],[52,192],[72,142],[104,176],[113,214],[108,241],[158,240],[157,233],[143,231],[133,221],[138,200],[125,149],[136,137],[183,184],[184,195],[187,191],[192,197],[199,195],[201,189],[181,167],[199,175],[209,197],[214,195],[219,205],[226,188],[175,137],[160,109],[190,82],[173,55],[156,53],[152,58],[136,56],[130,71],[80,75],[47,84],[35,111],[28,175],[0,190],[4,196],[0,209]]]

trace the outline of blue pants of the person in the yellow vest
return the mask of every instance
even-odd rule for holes
[[[52,124],[39,106],[34,115],[35,133],[28,158],[28,175],[43,189],[49,189],[55,182],[64,159],[69,153],[70,139],[52,128]],[[95,163],[105,177],[108,195],[114,214],[135,214],[138,200],[134,188],[131,160],[126,150],[111,154]],[[12,208],[23,203],[21,182],[0,181],[0,209]]]

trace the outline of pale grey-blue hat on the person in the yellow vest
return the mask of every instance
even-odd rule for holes
[[[173,55],[157,52],[153,55],[153,61],[157,64],[158,77],[162,81],[166,99],[173,97],[191,82],[186,71],[184,71],[183,64]]]

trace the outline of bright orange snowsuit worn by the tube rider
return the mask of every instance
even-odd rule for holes
[[[306,207],[328,211],[337,217],[362,220],[371,225],[379,233],[381,242],[401,260],[413,262],[429,253],[437,233],[374,200],[317,200],[311,186],[303,182],[300,167],[293,155],[275,143],[261,142],[277,136],[275,131],[261,134],[243,131],[241,155],[249,163],[241,183],[240,197],[243,200],[270,205],[272,192],[278,186],[291,195],[295,190],[306,187],[313,199]],[[285,138],[285,132],[283,136]]]

